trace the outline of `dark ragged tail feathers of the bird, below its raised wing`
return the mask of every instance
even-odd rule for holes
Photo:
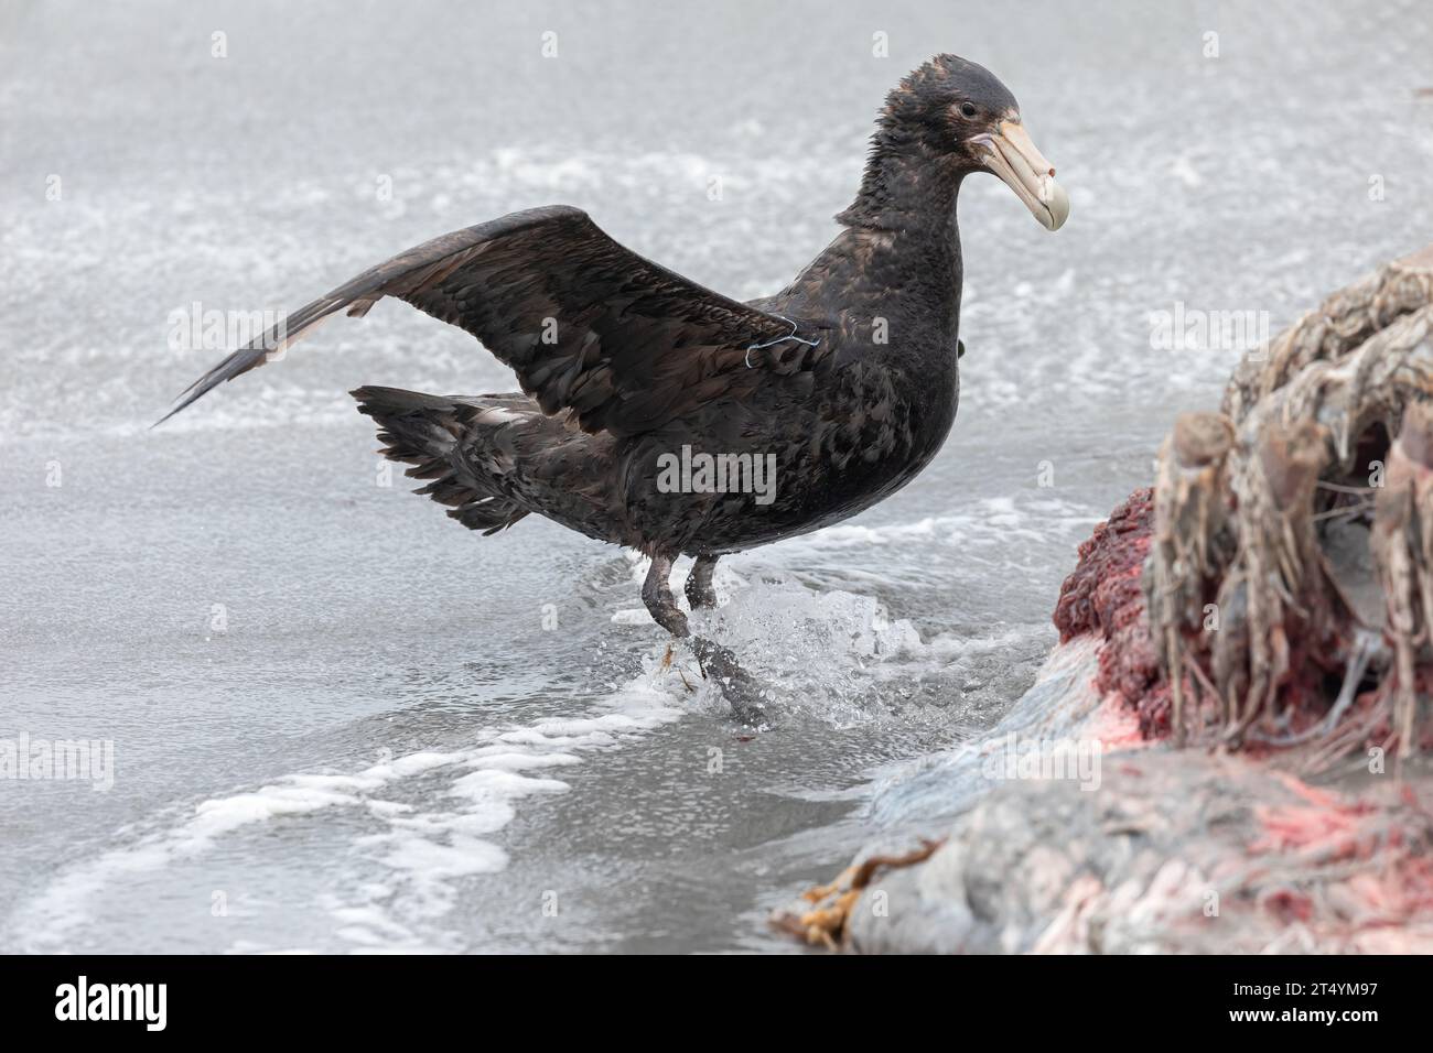
[[[474,428],[493,417],[506,420],[502,410],[484,407],[481,398],[446,398],[403,388],[361,387],[350,393],[358,411],[378,424],[380,451],[393,461],[411,467],[403,474],[430,480],[414,493],[427,494],[449,507],[449,516],[470,530],[484,534],[510,527],[529,514],[500,480],[474,470],[464,456],[463,443]],[[493,398],[503,398],[494,395]]]

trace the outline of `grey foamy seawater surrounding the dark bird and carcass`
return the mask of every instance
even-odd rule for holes
[[[0,950],[790,948],[765,913],[871,837],[874,787],[1030,683],[1078,543],[1174,414],[1217,403],[1237,351],[1156,350],[1149,312],[1277,330],[1429,241],[1430,23],[1417,0],[7,0],[0,741],[107,741],[115,771],[0,779]],[[383,484],[344,391],[512,387],[460,331],[384,304],[148,430],[219,357],[171,350],[171,312],[295,308],[519,208],[771,292],[940,50],[1012,86],[1073,212],[1049,235],[967,185],[944,451],[724,564],[711,630],[772,685],[772,731],[662,668],[626,554],[542,521],[481,539]]]

